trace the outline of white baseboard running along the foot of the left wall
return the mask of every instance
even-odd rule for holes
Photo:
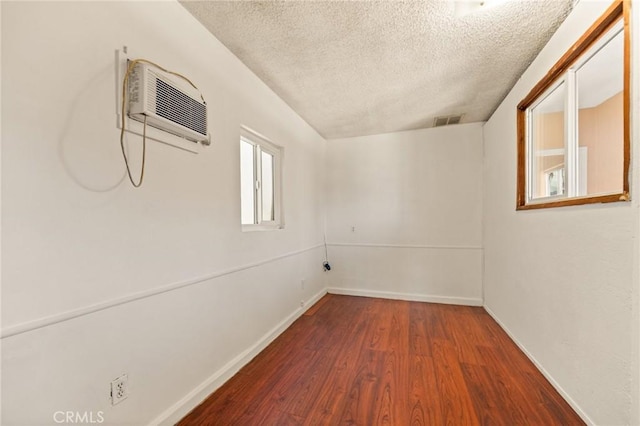
[[[296,309],[291,315],[282,320],[280,324],[269,330],[253,346],[246,349],[237,357],[229,361],[224,367],[213,373],[208,379],[189,392],[184,398],[169,407],[160,414],[150,425],[174,425],[191,410],[197,407],[216,389],[222,386],[227,380],[233,377],[242,367],[249,363],[256,355],[264,350],[276,337],[282,334],[293,322],[307,311],[314,303],[327,294],[323,289],[315,296],[311,297],[304,307]]]

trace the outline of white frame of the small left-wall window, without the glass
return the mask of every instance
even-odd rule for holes
[[[242,127],[240,130],[240,147],[242,143],[253,145],[253,218],[254,223],[242,223],[242,195],[240,197],[240,225],[242,231],[269,231],[284,228],[282,215],[282,159],[284,149],[271,142],[261,134]],[[262,153],[273,156],[273,218],[262,219]],[[242,182],[242,162],[240,162],[240,181]],[[242,192],[242,191],[241,191]]]

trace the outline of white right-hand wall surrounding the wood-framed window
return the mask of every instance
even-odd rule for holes
[[[581,1],[484,127],[484,289],[486,308],[586,421],[623,425],[640,423],[637,121],[632,202],[515,211],[516,105],[609,4]],[[637,73],[637,46],[633,57]]]

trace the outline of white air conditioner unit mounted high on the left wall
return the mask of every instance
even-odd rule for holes
[[[177,84],[145,63],[129,76],[129,117],[192,142],[209,145],[207,104],[195,88]]]

